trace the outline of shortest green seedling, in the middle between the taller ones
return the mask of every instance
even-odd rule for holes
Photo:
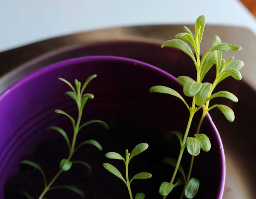
[[[124,182],[124,184],[126,184],[128,192],[129,192],[129,195],[130,195],[130,199],[133,199],[133,194],[132,194],[131,187],[130,187],[132,181],[135,180],[135,179],[148,179],[148,178],[152,177],[152,175],[150,173],[142,172],[142,173],[137,173],[135,176],[132,177],[132,179],[129,180],[129,175],[128,175],[128,165],[129,165],[130,160],[134,156],[139,155],[140,153],[142,153],[147,148],[148,148],[148,144],[147,143],[141,143],[141,144],[138,144],[136,147],[134,147],[134,149],[132,150],[131,153],[129,153],[129,151],[126,149],[126,151],[125,151],[125,158],[122,157],[120,154],[118,154],[116,152],[108,152],[105,155],[107,158],[110,158],[110,159],[120,159],[120,160],[124,161],[125,172],[126,172],[126,179],[123,178],[123,176],[120,173],[120,171],[118,169],[116,169],[115,166],[113,166],[112,164],[103,163],[103,166],[110,173],[112,173],[116,177],[120,178]],[[143,198],[145,198],[145,194],[144,193],[137,193],[136,196],[135,196],[135,199],[143,199]]]

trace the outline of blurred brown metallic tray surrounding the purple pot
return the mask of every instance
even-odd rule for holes
[[[139,59],[163,68],[160,63],[160,44],[182,32],[183,26],[137,26],[96,30],[73,34],[33,43],[24,47],[0,53],[0,93],[15,81],[27,74],[49,64],[69,58],[88,55],[116,55]],[[188,26],[193,30],[193,26]],[[201,52],[206,52],[211,46],[214,35],[220,36],[223,43],[242,46],[242,51],[232,53],[236,59],[244,61],[242,69],[243,81],[230,81],[223,89],[232,90],[239,98],[232,105],[236,120],[233,123],[223,122],[220,113],[213,111],[211,116],[215,122],[225,149],[227,161],[227,178],[224,199],[254,199],[256,198],[256,161],[255,161],[255,128],[254,113],[256,112],[256,37],[244,28],[207,26],[203,37]],[[115,41],[115,42],[112,42]],[[136,52],[133,42],[144,42],[145,52]],[[126,48],[120,55],[118,48]],[[152,45],[151,45],[152,44]],[[157,45],[154,45],[157,44]],[[119,45],[116,51],[109,52],[108,45]],[[159,54],[150,54],[151,49],[159,47]],[[112,48],[113,49],[113,48]],[[154,51],[155,52],[155,51]],[[224,53],[227,58],[229,53]],[[150,58],[149,58],[150,57]],[[167,70],[164,68],[164,70]],[[171,71],[168,71],[171,72]],[[186,74],[183,69],[181,74]],[[174,74],[181,75],[181,74]]]

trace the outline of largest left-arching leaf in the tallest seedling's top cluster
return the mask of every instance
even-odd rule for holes
[[[196,63],[194,54],[186,42],[182,40],[169,40],[169,41],[163,42],[161,48],[166,46],[180,49],[181,51],[185,52],[193,60],[194,63]]]

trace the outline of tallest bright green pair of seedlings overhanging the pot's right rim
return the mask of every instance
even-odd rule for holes
[[[184,135],[182,135],[182,133],[180,132],[171,132],[174,133],[174,135],[176,135],[180,140],[181,149],[178,159],[175,160],[175,164],[173,164],[174,161],[172,161],[171,163],[171,165],[175,166],[175,170],[173,176],[171,177],[170,183],[168,184],[167,182],[163,182],[162,185],[160,186],[159,193],[163,196],[163,199],[165,199],[168,196],[168,194],[175,185],[173,183],[177,171],[180,170],[180,162],[182,159],[184,149],[186,147],[189,154],[192,155],[192,158],[189,172],[185,180],[183,193],[181,194],[180,198],[182,199],[184,194],[187,198],[193,198],[196,195],[200,181],[196,178],[190,178],[194,162],[194,156],[197,156],[200,153],[201,149],[203,151],[209,151],[211,148],[210,140],[207,137],[207,135],[199,134],[206,113],[213,108],[218,108],[228,121],[233,122],[235,119],[234,112],[230,107],[222,104],[215,104],[209,106],[209,104],[211,99],[217,97],[227,98],[234,102],[238,101],[237,97],[228,91],[220,91],[217,93],[213,93],[213,91],[215,87],[218,85],[218,83],[220,83],[222,80],[229,76],[237,80],[242,79],[242,75],[239,70],[244,65],[244,63],[240,60],[234,60],[234,57],[230,57],[229,59],[227,59],[227,61],[225,61],[225,59],[222,58],[222,51],[239,51],[241,50],[241,47],[237,45],[222,43],[218,36],[214,36],[212,47],[200,59],[200,44],[203,36],[204,25],[205,16],[202,15],[198,17],[196,20],[195,35],[193,35],[193,33],[187,27],[184,26],[184,30],[186,31],[185,33],[180,33],[176,35],[177,39],[169,40],[162,44],[162,47],[174,47],[182,50],[194,62],[197,71],[196,80],[187,76],[180,76],[177,78],[177,80],[183,85],[183,93],[188,97],[193,97],[191,106],[188,105],[188,103],[178,92],[166,86],[154,86],[151,87],[149,90],[150,92],[155,93],[170,94],[181,99],[181,101],[186,105],[190,113],[187,128]],[[193,47],[195,51],[195,56],[188,44],[190,44],[191,47]],[[202,82],[204,76],[207,74],[207,72],[211,69],[211,67],[214,64],[216,66],[216,76],[214,82]],[[188,137],[193,117],[195,113],[201,109],[201,107],[203,107],[203,113],[197,127],[197,132],[194,137]],[[177,182],[180,182],[179,184],[182,184],[179,178],[177,179]]]

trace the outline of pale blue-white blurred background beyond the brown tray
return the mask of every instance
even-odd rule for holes
[[[246,27],[256,33],[255,0],[1,0],[0,51],[81,31],[146,24]]]

